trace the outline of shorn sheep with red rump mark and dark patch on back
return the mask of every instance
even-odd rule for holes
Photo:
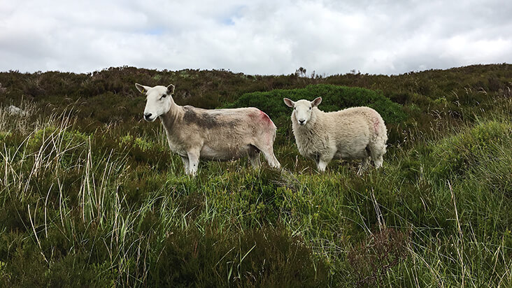
[[[257,108],[207,110],[179,106],[173,100],[174,85],[148,87],[135,84],[145,94],[143,119],[160,118],[172,152],[180,155],[185,173],[197,174],[199,158],[229,161],[248,156],[259,166],[263,152],[269,166],[280,168],[273,154],[276,125]]]

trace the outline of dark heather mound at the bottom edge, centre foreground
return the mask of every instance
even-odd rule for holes
[[[314,263],[297,236],[264,227],[229,235],[206,229],[171,233],[162,243],[150,286],[323,287],[327,267]],[[215,247],[215,249],[212,249]]]

